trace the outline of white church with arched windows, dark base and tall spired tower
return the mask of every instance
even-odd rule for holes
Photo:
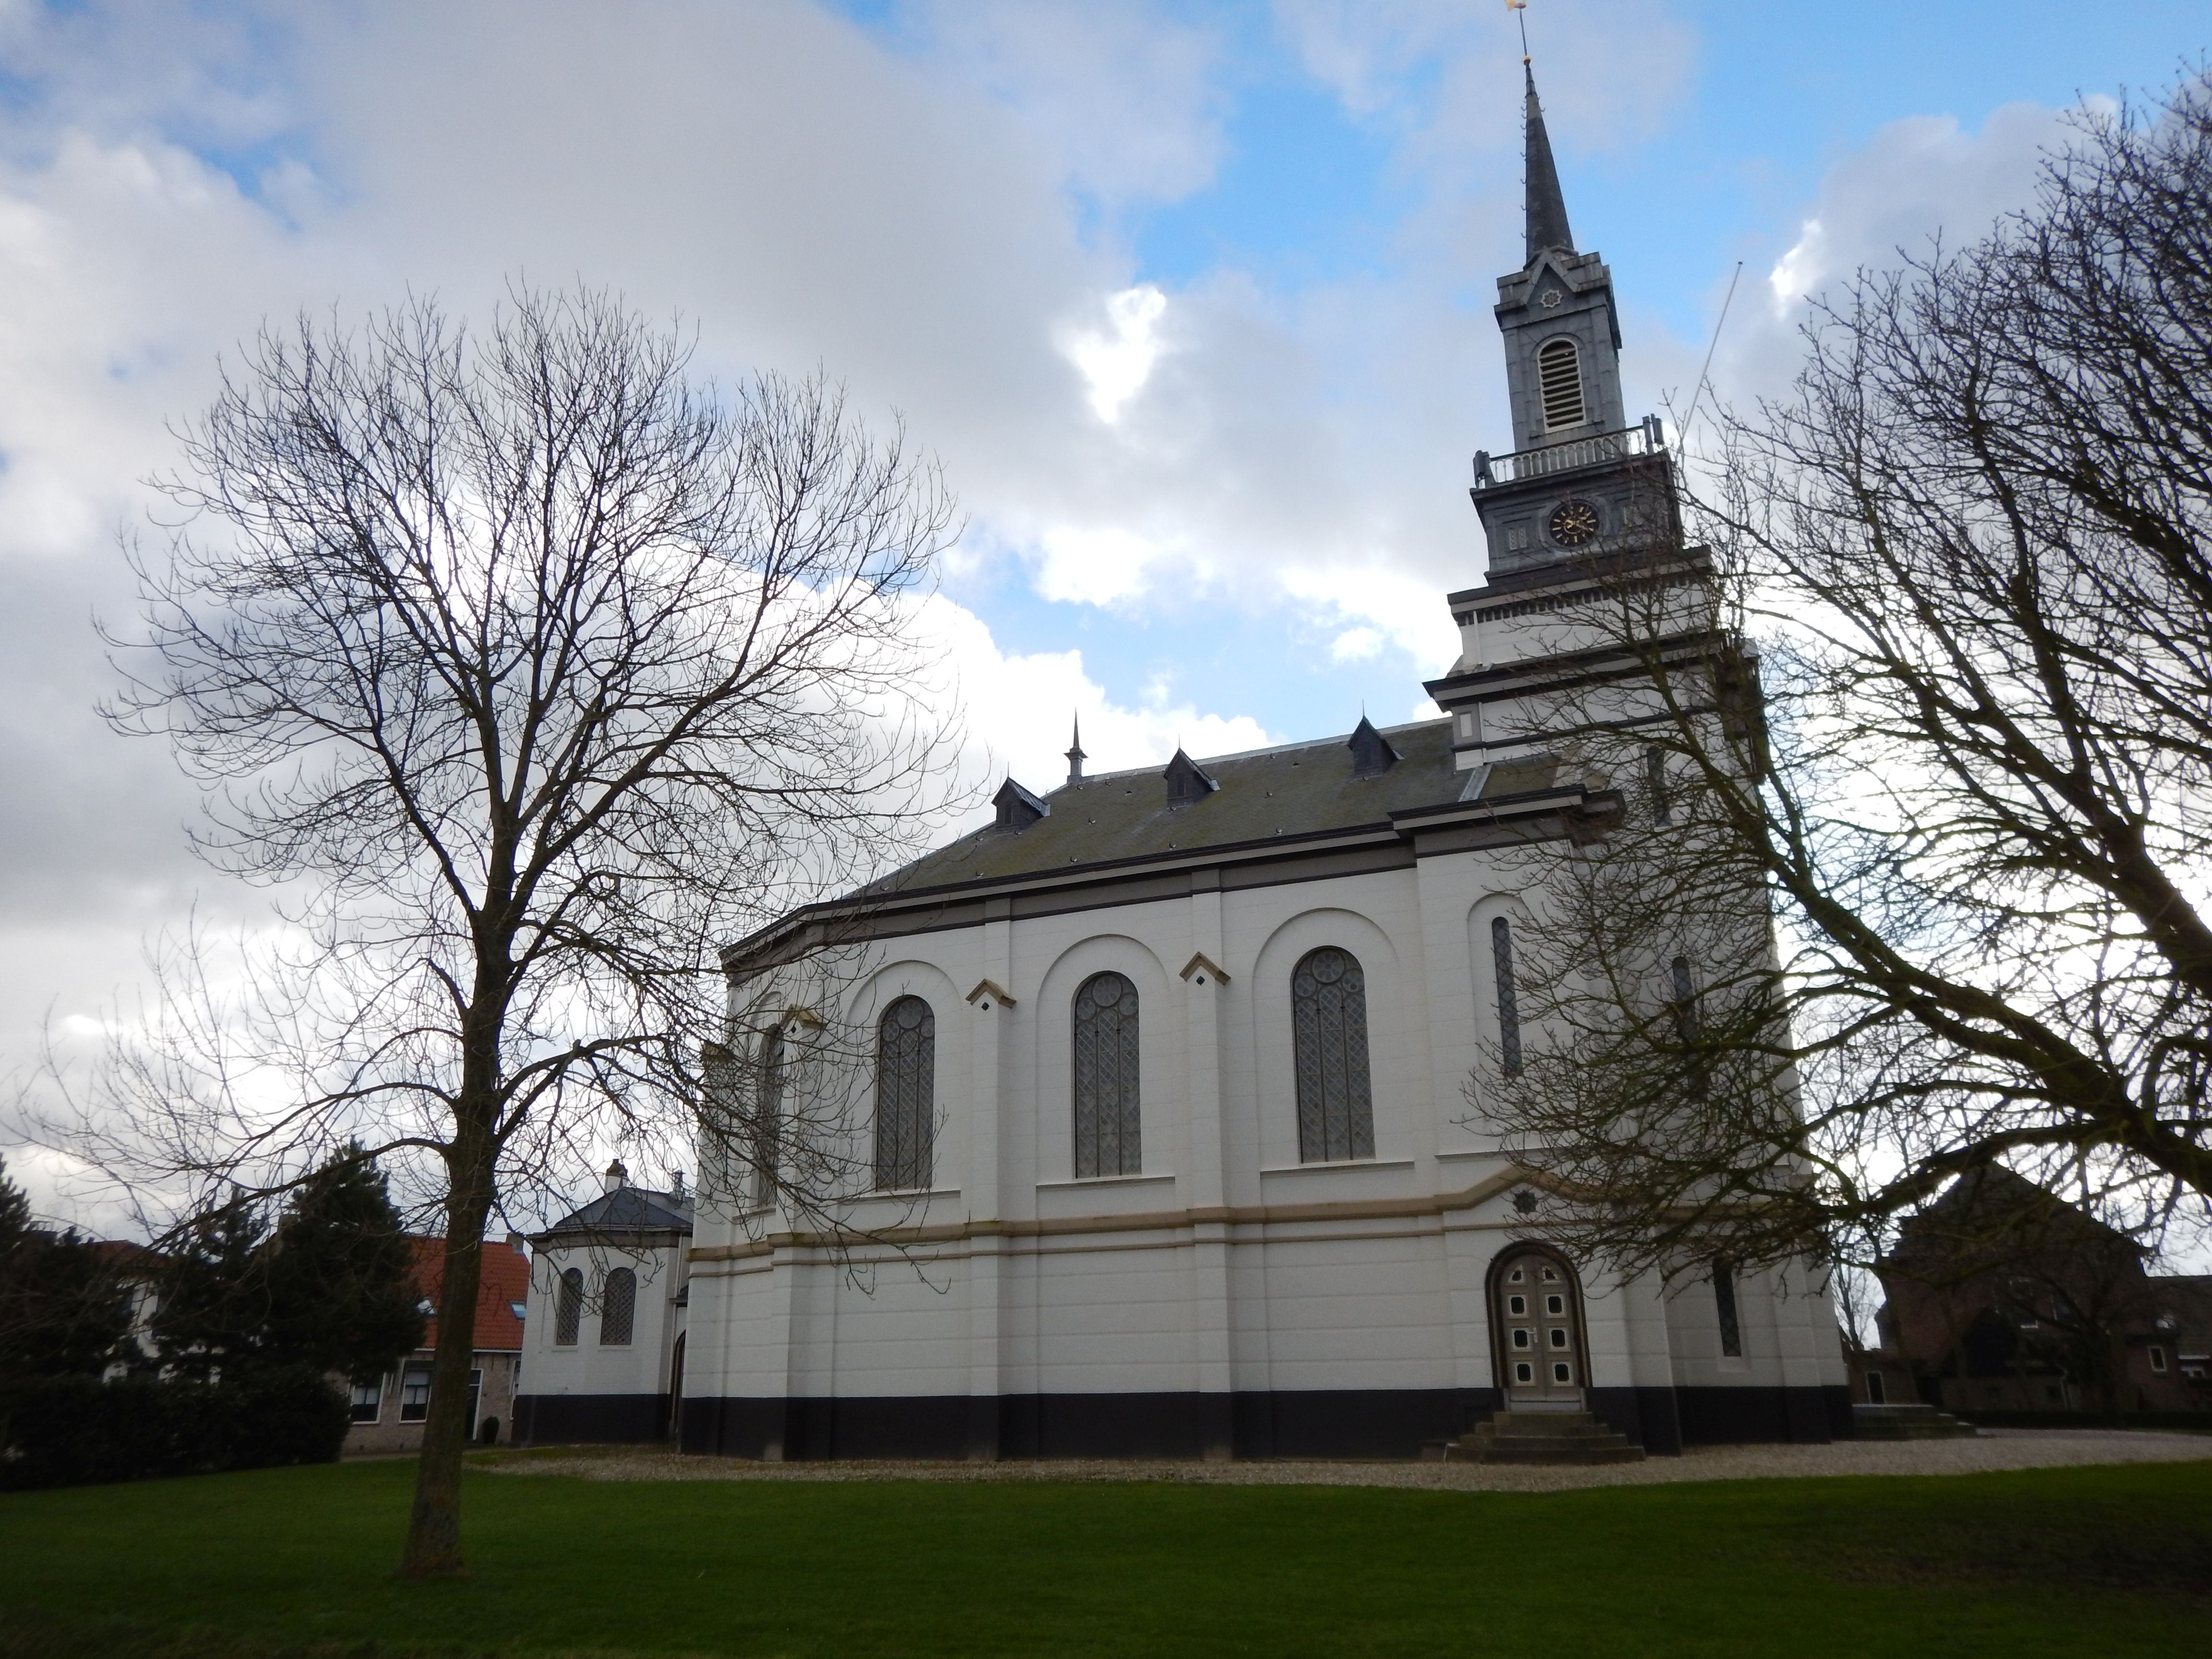
[[[1851,1433],[1816,1276],[1619,1283],[1469,1104],[1520,1042],[1506,854],[1604,805],[1531,726],[1571,668],[1537,624],[1590,555],[1683,557],[1533,77],[1498,323],[1513,447],[1475,458],[1444,719],[1110,774],[1077,743],[1057,790],[1009,779],[993,825],[726,951],[750,1086],[860,1033],[872,1190],[836,1239],[708,1164],[686,1451],[1413,1458],[1500,1409],[1655,1455]]]

